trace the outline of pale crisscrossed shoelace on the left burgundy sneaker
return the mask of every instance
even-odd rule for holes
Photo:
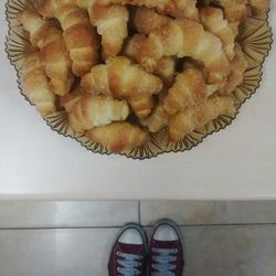
[[[138,269],[141,266],[141,259],[142,256],[140,255],[134,255],[128,253],[117,253],[117,255],[120,257],[117,263],[117,272],[119,273],[119,276],[137,276],[140,275],[140,269]]]

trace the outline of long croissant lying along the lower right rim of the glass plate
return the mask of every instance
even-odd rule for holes
[[[170,118],[169,137],[179,141],[197,128],[201,128],[221,115],[234,116],[234,100],[229,96],[211,96],[200,106],[194,106]]]

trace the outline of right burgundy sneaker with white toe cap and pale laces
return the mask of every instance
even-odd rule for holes
[[[159,221],[149,243],[149,276],[182,276],[182,235],[174,222]]]

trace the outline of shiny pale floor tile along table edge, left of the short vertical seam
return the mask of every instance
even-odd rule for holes
[[[2,201],[0,229],[121,226],[138,222],[137,201]]]

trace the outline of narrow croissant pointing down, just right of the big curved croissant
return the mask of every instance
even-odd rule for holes
[[[223,50],[230,61],[234,57],[235,35],[227,20],[223,18],[223,11],[217,8],[202,8],[200,18],[203,26],[216,35],[223,43]]]

